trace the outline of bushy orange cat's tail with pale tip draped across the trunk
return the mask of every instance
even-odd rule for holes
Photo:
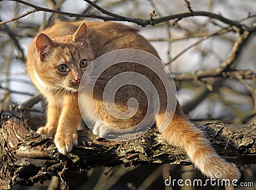
[[[165,113],[159,112],[157,126],[161,126]],[[236,166],[227,163],[211,147],[209,140],[202,131],[184,119],[179,103],[172,122],[162,132],[163,137],[172,145],[183,147],[191,161],[204,175],[212,179],[239,179],[241,174]]]

